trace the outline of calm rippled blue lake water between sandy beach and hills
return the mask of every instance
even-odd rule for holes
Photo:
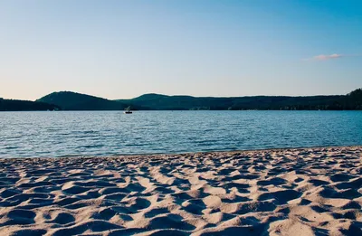
[[[362,145],[362,111],[0,112],[0,157]]]

